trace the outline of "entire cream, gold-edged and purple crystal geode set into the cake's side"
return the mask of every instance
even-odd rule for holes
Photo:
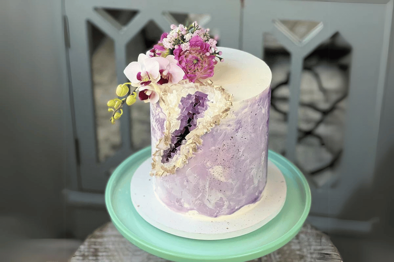
[[[174,174],[202,145],[201,136],[220,124],[232,106],[232,95],[212,81],[181,81],[164,90],[151,104],[152,171],[154,176]]]

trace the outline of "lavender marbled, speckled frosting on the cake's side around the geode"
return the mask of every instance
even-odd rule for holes
[[[242,101],[219,126],[201,136],[195,156],[175,174],[155,177],[158,198],[177,212],[232,214],[259,200],[267,181],[271,90]],[[152,152],[164,133],[165,115],[151,104]]]

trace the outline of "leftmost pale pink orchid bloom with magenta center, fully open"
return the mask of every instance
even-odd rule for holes
[[[147,86],[160,80],[159,63],[145,54],[139,54],[138,62],[131,62],[123,71],[131,85]]]

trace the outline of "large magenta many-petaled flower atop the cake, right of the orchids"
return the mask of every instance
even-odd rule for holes
[[[210,55],[210,44],[206,43],[199,35],[193,36],[190,41],[190,48],[174,50],[175,59],[186,77],[195,82],[196,79],[207,79],[214,75],[214,67],[217,64],[214,55]]]

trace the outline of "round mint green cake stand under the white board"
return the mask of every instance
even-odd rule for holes
[[[270,222],[249,234],[222,240],[195,240],[165,233],[139,216],[130,198],[135,170],[151,156],[151,148],[136,152],[113,172],[105,191],[105,202],[119,232],[139,248],[177,262],[244,262],[262,257],[289,242],[301,229],[310,209],[311,197],[303,174],[283,156],[269,151],[268,158],[283,173],[286,202]]]

